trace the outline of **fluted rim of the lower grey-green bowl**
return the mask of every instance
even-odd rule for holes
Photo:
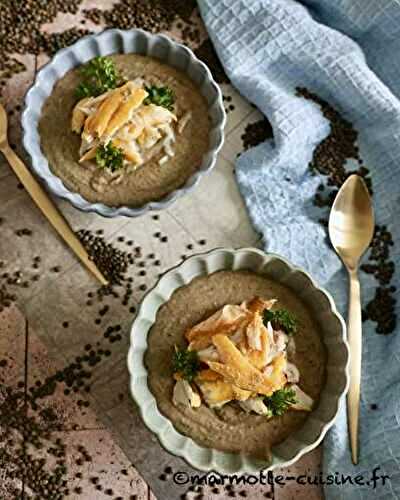
[[[211,272],[209,272],[209,270],[207,269],[207,271],[205,273],[203,273],[203,272],[202,273],[194,273],[194,275],[190,278],[190,280],[187,283],[186,282],[180,283],[178,286],[175,286],[172,291],[170,290],[168,293],[168,298],[164,302],[158,304],[155,307],[154,318],[153,318],[153,321],[152,321],[150,327],[147,328],[147,331],[144,334],[143,333],[141,334],[142,335],[141,341],[144,342],[145,348],[138,349],[138,347],[136,345],[138,342],[137,332],[135,333],[135,331],[138,329],[137,325],[139,325],[140,322],[143,322],[143,321],[148,322],[147,316],[144,315],[145,302],[146,302],[146,300],[149,300],[148,298],[151,297],[151,295],[153,295],[157,292],[157,289],[162,285],[162,283],[164,281],[166,281],[166,279],[168,277],[175,275],[177,273],[177,271],[180,268],[182,268],[183,266],[187,266],[187,267],[190,266],[191,262],[193,263],[196,260],[200,259],[203,261],[207,261],[207,259],[211,258],[213,255],[216,255],[218,253],[225,253],[227,255],[234,256],[235,254],[238,254],[240,252],[248,253],[248,254],[256,254],[258,256],[264,257],[265,259],[269,259],[269,260],[272,260],[272,259],[278,260],[278,261],[284,263],[290,269],[291,272],[299,272],[299,273],[303,274],[304,276],[306,276],[307,279],[310,281],[312,287],[316,291],[321,292],[327,298],[329,305],[330,305],[330,311],[331,311],[332,315],[334,317],[336,317],[336,319],[339,321],[339,324],[341,327],[340,343],[345,348],[345,353],[344,353],[345,362],[343,363],[344,364],[343,374],[345,377],[345,383],[344,383],[341,391],[337,394],[337,396],[335,398],[335,410],[334,410],[333,417],[323,424],[321,431],[320,431],[319,435],[317,436],[317,438],[312,443],[301,447],[299,449],[299,451],[295,454],[294,457],[292,457],[291,459],[286,460],[286,461],[285,460],[283,460],[283,461],[282,460],[274,460],[274,458],[273,458],[271,463],[264,462],[263,465],[260,465],[260,466],[252,465],[249,461],[249,460],[251,460],[251,458],[249,460],[247,460],[246,456],[244,456],[242,454],[223,452],[221,450],[217,450],[216,448],[206,448],[200,444],[197,444],[190,436],[186,436],[186,435],[182,434],[179,430],[177,430],[175,428],[175,426],[173,425],[173,423],[171,422],[171,420],[168,417],[166,417],[163,413],[160,412],[160,410],[158,408],[157,400],[148,386],[148,370],[146,368],[146,365],[144,364],[144,357],[145,357],[145,353],[146,353],[147,348],[148,348],[148,343],[147,343],[148,333],[150,332],[150,329],[156,320],[156,316],[157,316],[157,313],[158,313],[160,307],[162,307],[163,304],[165,304],[168,300],[170,300],[172,294],[176,290],[178,290],[182,286],[187,285],[188,283],[193,281],[195,278],[197,278],[199,276],[210,275],[210,274],[213,274],[214,272],[219,272],[221,270],[227,269],[226,267],[221,268],[221,269],[217,269],[217,270],[211,271]],[[251,268],[249,268],[249,270],[251,271]],[[144,295],[144,297],[142,298],[142,300],[139,304],[138,311],[137,311],[137,314],[133,320],[131,331],[130,331],[130,346],[129,346],[129,350],[128,350],[128,354],[127,354],[127,366],[128,366],[129,376],[130,376],[130,381],[129,381],[130,392],[131,392],[133,400],[135,401],[135,403],[139,409],[139,414],[142,418],[142,421],[144,422],[145,426],[153,434],[156,435],[161,446],[169,453],[172,453],[175,456],[183,458],[189,465],[191,465],[192,467],[194,467],[198,470],[201,470],[201,471],[206,472],[206,473],[216,472],[217,474],[237,474],[237,473],[248,474],[248,473],[259,472],[261,470],[267,472],[267,471],[273,471],[273,470],[280,468],[280,467],[289,467],[289,466],[293,465],[295,462],[297,462],[297,460],[299,460],[303,455],[305,455],[305,454],[309,453],[310,451],[312,451],[313,449],[315,449],[322,442],[326,433],[333,426],[333,424],[338,416],[342,400],[344,399],[344,396],[347,393],[347,391],[349,389],[349,384],[350,384],[350,378],[349,378],[350,349],[349,349],[349,345],[347,342],[347,333],[346,332],[347,332],[346,323],[345,323],[342,315],[338,312],[338,310],[336,308],[335,301],[334,301],[332,295],[330,294],[330,292],[328,292],[325,288],[319,286],[307,271],[305,271],[301,267],[298,267],[298,266],[292,264],[285,257],[278,255],[276,253],[272,253],[272,252],[264,252],[263,250],[260,250],[258,248],[254,248],[254,247],[237,247],[237,248],[217,247],[217,248],[213,248],[211,250],[205,251],[205,252],[198,252],[198,253],[192,254],[190,257],[185,259],[183,262],[179,262],[176,265],[168,268],[160,276],[160,278],[157,280],[156,284],[150,290],[148,290],[146,292],[146,294]],[[134,336],[136,337],[135,339],[134,339]],[[144,378],[145,383],[146,383],[146,392],[150,396],[149,400],[146,402],[145,405],[143,405],[141,403],[141,401],[138,397],[137,386],[139,384],[135,383],[135,375],[134,375],[135,368],[133,366],[133,364],[134,364],[133,357],[135,354],[138,354],[139,359],[141,361],[141,369],[145,374],[141,378]],[[156,425],[153,425],[153,422],[152,422],[153,417],[148,416],[149,408],[151,408],[156,414],[156,417],[157,417],[156,418],[156,420],[157,420]],[[160,422],[162,422],[162,425],[160,425]],[[178,447],[172,448],[170,445],[167,444],[165,437],[164,437],[166,428],[168,428],[168,430],[170,432],[175,432],[180,438],[182,438],[183,445],[180,446],[180,448],[178,448]],[[196,458],[194,458],[193,456],[190,455],[189,448],[191,448],[193,446],[195,447],[195,449],[199,449],[201,451],[209,451],[211,453],[211,459],[210,459],[209,466],[203,466],[201,463],[199,463],[198,460],[196,460]],[[221,465],[221,461],[220,461],[220,463],[218,463],[218,461],[215,460],[216,455],[217,455],[217,457],[218,457],[218,455],[224,455],[225,457],[226,456],[232,456],[232,457],[239,456],[241,458],[241,465],[239,468],[235,468],[235,470],[232,470],[231,468],[226,468],[224,465]]]

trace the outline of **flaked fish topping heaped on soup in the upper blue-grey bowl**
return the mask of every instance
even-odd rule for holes
[[[157,96],[169,94],[168,104]],[[162,102],[162,101],[161,101]],[[97,97],[84,97],[74,107],[71,129],[80,135],[79,162],[95,162],[112,171],[137,168],[162,152],[164,165],[174,156],[174,143],[191,118],[173,113],[174,97],[167,87],[146,84],[136,78]]]

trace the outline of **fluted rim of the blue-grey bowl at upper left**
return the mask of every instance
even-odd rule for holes
[[[162,40],[163,43],[168,44],[168,46],[172,47],[174,50],[180,50],[187,54],[189,57],[190,63],[195,64],[196,66],[200,66],[202,70],[205,72],[205,85],[211,87],[216,95],[214,99],[213,106],[217,106],[218,114],[220,115],[220,119],[217,121],[213,129],[217,130],[217,139],[216,144],[213,147],[209,147],[206,153],[203,155],[202,163],[198,170],[196,170],[188,179],[186,179],[185,183],[175,190],[167,193],[159,200],[149,201],[144,203],[141,206],[133,207],[127,205],[121,206],[111,206],[106,205],[100,202],[90,202],[86,198],[84,198],[80,193],[71,191],[63,182],[63,180],[55,175],[49,166],[49,162],[45,155],[42,152],[40,146],[40,135],[38,131],[38,120],[36,123],[32,124],[31,113],[32,110],[35,109],[36,105],[36,95],[39,94],[41,105],[43,106],[44,101],[49,97],[51,92],[43,91],[41,85],[41,75],[46,69],[52,67],[57,64],[57,62],[66,54],[66,53],[76,53],[82,51],[83,47],[86,44],[90,43],[91,40],[96,40],[97,42],[102,38],[107,40],[107,37],[110,35],[112,37],[120,36],[123,37],[124,34],[131,34],[131,36],[137,36],[137,34],[141,34],[146,37],[150,43],[156,43],[157,40]],[[135,35],[136,34],[136,35]],[[106,42],[107,43],[107,42]],[[118,51],[109,51],[109,54],[118,54],[118,53],[135,53],[135,52],[118,52]],[[95,57],[95,56],[93,56]],[[89,59],[85,60],[87,62]],[[164,59],[159,59],[161,62],[165,62]],[[76,64],[74,67],[77,67]],[[63,74],[63,76],[65,73]],[[53,81],[53,87],[57,81],[59,81],[61,77],[57,77]],[[52,88],[53,88],[52,87]],[[210,105],[208,106],[208,110],[210,110]],[[30,156],[31,166],[36,175],[44,182],[47,189],[49,189],[53,194],[62,198],[64,200],[69,201],[75,208],[84,212],[95,212],[103,217],[116,217],[116,216],[126,216],[126,217],[138,217],[140,215],[144,215],[150,211],[158,211],[163,210],[169,207],[172,203],[174,203],[178,198],[183,196],[186,193],[190,193],[195,189],[197,184],[200,182],[201,178],[209,173],[215,166],[217,161],[217,154],[221,150],[224,143],[224,129],[226,123],[226,113],[222,100],[222,91],[220,86],[214,80],[210,69],[208,66],[198,59],[192,49],[187,47],[186,45],[176,42],[172,38],[164,34],[152,34],[141,28],[132,28],[128,30],[121,30],[117,28],[104,29],[98,33],[88,34],[81,37],[79,40],[74,42],[73,44],[60,49],[54,54],[53,57],[43,65],[40,70],[36,73],[35,79],[30,87],[27,89],[24,96],[24,109],[21,115],[21,123],[22,123],[22,143]],[[210,129],[211,132],[212,129]],[[35,132],[37,137],[34,137],[32,134]],[[37,147],[38,152],[35,151]],[[205,160],[205,157],[208,157]],[[43,171],[42,167],[45,171]],[[47,171],[46,171],[47,170]]]

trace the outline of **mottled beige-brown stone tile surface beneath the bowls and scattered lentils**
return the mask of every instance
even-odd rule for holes
[[[86,0],[82,8],[109,8],[110,5],[111,2],[106,0]],[[46,30],[56,32],[73,26],[82,27],[82,19],[81,13],[76,16],[61,14]],[[194,17],[194,23],[193,26],[200,30],[200,40],[204,40],[206,34],[198,16]],[[85,28],[99,31],[101,26],[86,22]],[[180,38],[180,30],[182,27],[175,26],[171,34]],[[45,64],[48,58],[27,54],[22,59],[26,71],[7,82],[2,97],[11,114],[10,142],[15,144],[21,154],[19,120],[23,95],[36,69]],[[275,486],[273,489],[269,486],[237,486],[234,490],[207,486],[202,491],[196,488],[191,491],[188,489],[190,484],[174,484],[172,473],[166,472],[169,468],[173,472],[186,471],[189,475],[196,474],[196,471],[159,445],[143,425],[129,395],[126,354],[134,317],[130,308],[137,306],[143,297],[144,290],[139,287],[152,287],[160,273],[192,253],[218,246],[259,244],[259,237],[249,223],[238,192],[233,169],[236,155],[243,150],[241,136],[246,125],[256,122],[261,116],[229,84],[224,83],[222,90],[227,110],[227,137],[216,168],[193,193],[160,213],[158,219],[152,214],[138,219],[108,220],[95,214],[79,212],[66,202],[56,201],[74,229],[103,230],[107,241],[123,249],[127,249],[128,240],[134,241],[134,247],[141,248],[142,257],[136,259],[129,270],[133,278],[129,307],[123,306],[121,300],[106,298],[104,304],[108,304],[110,310],[101,318],[100,324],[96,324],[95,319],[104,304],[94,301],[92,306],[85,305],[87,294],[96,290],[97,283],[58,239],[26,192],[18,187],[18,181],[4,159],[0,159],[0,217],[4,219],[0,226],[0,261],[3,261],[4,272],[20,270],[23,279],[29,282],[27,287],[13,287],[19,309],[12,306],[0,313],[0,360],[3,357],[9,360],[6,369],[0,368],[1,383],[15,385],[21,381],[25,384],[26,381],[29,388],[62,369],[76,356],[82,355],[84,346],[88,344],[112,352],[92,369],[91,390],[85,396],[89,407],[78,407],[77,401],[81,396],[66,396],[62,384],[46,401],[63,416],[63,427],[59,434],[68,449],[71,499],[95,500],[118,496],[126,499],[130,495],[137,495],[137,500],[156,500],[156,497],[174,500],[184,498],[184,495],[187,500],[230,497],[254,500],[322,498],[319,487],[299,487],[295,484]],[[32,235],[16,236],[15,231],[21,228],[30,229]],[[157,233],[166,236],[167,241],[156,237]],[[124,242],[118,240],[121,237],[124,237]],[[35,256],[41,257],[36,269],[33,266]],[[59,267],[58,272],[54,271],[55,266]],[[33,281],[36,275],[37,281]],[[63,325],[65,322],[68,323],[67,327]],[[111,344],[104,338],[109,325],[120,325],[120,341]],[[92,456],[92,462],[87,464],[82,478],[75,476],[74,466],[76,448],[80,444]],[[307,471],[313,475],[318,474],[319,470],[318,450],[279,473],[296,475]],[[101,491],[95,489],[91,477],[99,478]],[[75,488],[82,488],[82,493],[74,493]],[[105,489],[111,489],[112,495],[104,495]]]

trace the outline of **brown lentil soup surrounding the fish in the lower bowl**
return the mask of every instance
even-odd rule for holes
[[[203,328],[203,332],[207,329],[210,332],[210,321],[212,321],[210,317],[215,319],[218,317],[218,311],[226,311],[227,304],[236,305],[236,308],[240,304],[247,304],[245,309],[251,309],[254,297],[262,297],[261,301],[267,301],[273,297],[277,302],[272,310],[279,306],[291,311],[296,317],[297,329],[293,335],[295,347],[290,346],[293,341],[289,340],[285,356],[287,361],[295,365],[298,370],[297,385],[308,398],[306,398],[306,406],[296,411],[288,408],[288,411],[281,416],[273,416],[264,410],[257,412],[258,407],[255,410],[254,407],[244,409],[240,401],[234,400],[237,397],[231,394],[228,398],[232,399],[231,401],[215,404],[216,401],[221,402],[225,396],[220,397],[218,391],[207,393],[202,389],[196,390],[196,384],[193,383],[191,386],[196,393],[195,396],[186,392],[182,397],[181,390],[176,393],[176,384],[181,377],[176,377],[171,357],[174,351],[178,350],[181,353],[180,349],[187,347],[185,335],[186,339],[190,338],[190,332],[195,333],[196,330],[201,330],[202,324],[207,326]],[[264,303],[267,308],[270,307],[267,302]],[[219,324],[218,333],[220,334],[223,330],[224,326]],[[231,329],[229,335],[231,335],[229,338],[232,343],[238,340],[237,329]],[[200,337],[194,336],[192,340],[193,338],[198,340]],[[215,338],[214,336],[213,339]],[[157,400],[158,408],[172,421],[178,431],[205,447],[228,452],[243,452],[256,458],[269,459],[271,447],[302,426],[311,407],[318,404],[318,398],[324,386],[326,353],[319,336],[318,326],[309,310],[286,287],[251,272],[221,271],[196,278],[190,284],[175,291],[171,299],[160,308],[148,341],[145,363],[149,372],[149,386]],[[220,342],[221,339],[219,339]],[[224,342],[228,340],[225,338]],[[204,348],[204,345],[200,347]],[[209,346],[206,348],[209,349]],[[221,353],[222,351],[218,348],[218,354]],[[212,356],[212,353],[208,352],[208,354]],[[200,354],[199,356],[200,362],[207,359],[202,358]],[[229,355],[223,361],[228,363]],[[212,366],[213,369],[218,369],[215,368],[217,364],[208,363],[208,368]],[[185,371],[187,365],[182,366]],[[239,373],[239,377],[242,375],[243,372]],[[287,372],[285,376],[289,379]],[[198,378],[192,379],[195,382],[198,380]],[[237,380],[238,378],[235,384],[239,384]],[[242,385],[240,389],[240,394],[243,394],[243,389],[248,389],[248,387]],[[260,390],[263,389],[257,388],[257,392]],[[264,391],[264,395],[267,393],[268,391]],[[219,400],[218,397],[220,397]],[[300,399],[303,400],[301,395]],[[271,399],[264,399],[264,401],[271,401]]]

